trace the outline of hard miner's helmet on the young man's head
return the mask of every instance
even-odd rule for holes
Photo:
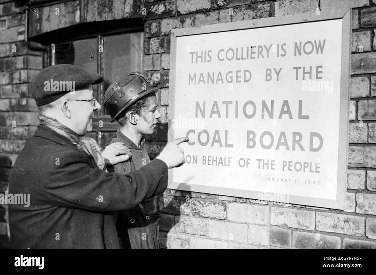
[[[131,72],[119,81],[112,83],[104,96],[105,107],[111,116],[111,122],[140,98],[158,90],[149,78],[141,72]]]

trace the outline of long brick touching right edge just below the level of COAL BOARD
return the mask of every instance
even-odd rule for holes
[[[376,168],[376,146],[349,146],[350,167]]]

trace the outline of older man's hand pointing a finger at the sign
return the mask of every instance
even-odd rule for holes
[[[164,161],[168,168],[179,167],[185,162],[184,151],[178,145],[188,141],[189,138],[181,137],[166,144],[162,152],[156,158]]]

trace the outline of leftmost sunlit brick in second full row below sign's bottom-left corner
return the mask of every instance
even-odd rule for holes
[[[208,236],[209,235],[209,220],[193,218],[188,216],[175,217],[175,231],[186,234]]]

